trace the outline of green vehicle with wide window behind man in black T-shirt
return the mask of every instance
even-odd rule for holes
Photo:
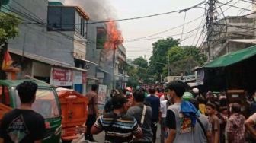
[[[42,81],[33,79],[25,80],[0,80],[0,119],[13,108],[20,106],[20,98],[16,86],[23,81],[34,81],[38,84],[36,100],[32,109],[45,118],[46,134],[43,142],[57,143],[61,137],[61,109],[59,97],[55,87]]]

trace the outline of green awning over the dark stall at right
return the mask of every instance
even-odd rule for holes
[[[241,49],[235,52],[230,52],[226,55],[220,56],[219,58],[213,60],[212,62],[203,65],[203,68],[217,68],[226,67],[237,62],[241,62],[256,55],[256,46],[251,46],[249,48]]]

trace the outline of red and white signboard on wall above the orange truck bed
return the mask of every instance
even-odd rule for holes
[[[56,86],[72,86],[72,69],[52,68],[51,83]]]

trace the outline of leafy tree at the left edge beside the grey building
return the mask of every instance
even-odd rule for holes
[[[8,47],[8,39],[18,36],[19,18],[15,14],[0,12],[0,68]],[[0,77],[5,77],[5,72],[0,70]]]

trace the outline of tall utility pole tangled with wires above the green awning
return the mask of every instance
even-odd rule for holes
[[[211,43],[213,42],[213,20],[214,20],[214,10],[215,10],[216,0],[209,0],[209,8],[206,15],[206,34],[207,34],[207,48],[208,48],[208,60],[213,59],[213,47]]]

